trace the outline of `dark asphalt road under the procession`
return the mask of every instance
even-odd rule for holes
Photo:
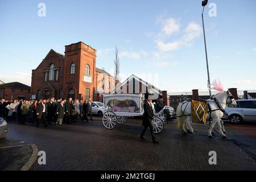
[[[161,143],[154,144],[149,131],[146,141],[139,139],[139,119],[107,130],[94,118],[47,128],[11,121],[0,147],[35,143],[46,152],[46,165],[35,163],[32,170],[256,170],[256,140],[230,126],[229,139],[218,134],[210,139],[206,126],[193,125],[193,135],[182,135],[172,121],[156,135]],[[216,151],[216,165],[208,163],[209,151]]]

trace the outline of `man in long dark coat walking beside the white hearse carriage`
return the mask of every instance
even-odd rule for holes
[[[149,127],[153,143],[159,143],[159,141],[156,140],[156,138],[154,136],[154,130],[153,130],[153,126],[152,126],[152,119],[154,117],[154,111],[152,109],[151,103],[152,103],[152,100],[146,100],[143,105],[144,113],[143,113],[142,126],[144,126],[144,129],[141,133],[141,139],[146,140],[146,138],[144,137],[144,134],[146,133],[146,131]]]

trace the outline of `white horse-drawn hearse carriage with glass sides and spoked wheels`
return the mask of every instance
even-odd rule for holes
[[[105,110],[102,123],[106,129],[113,129],[117,123],[124,124],[129,117],[141,116],[144,113],[142,94],[104,94]],[[165,108],[165,107],[164,107]],[[154,133],[160,133],[166,123],[163,110],[154,111],[152,126]]]

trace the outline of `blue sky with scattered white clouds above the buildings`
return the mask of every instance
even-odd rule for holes
[[[207,90],[202,10],[200,0],[0,0],[0,80],[30,85],[50,49],[64,54],[81,41],[112,75],[117,47],[121,81],[134,74],[168,92]],[[204,22],[210,82],[256,89],[256,1],[208,1]]]

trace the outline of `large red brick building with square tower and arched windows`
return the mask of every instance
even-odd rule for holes
[[[96,49],[79,42],[65,46],[65,55],[49,51],[32,70],[32,98],[68,98],[100,100],[101,93],[114,89],[115,79],[96,68]]]

